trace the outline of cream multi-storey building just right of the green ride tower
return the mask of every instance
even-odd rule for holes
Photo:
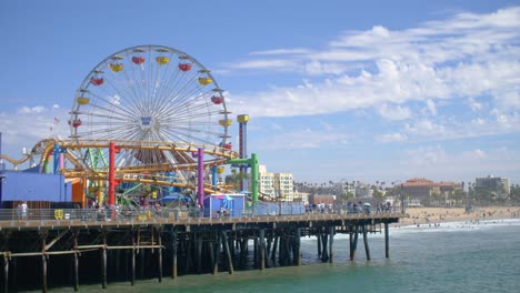
[[[282,201],[294,200],[294,183],[291,173],[270,173],[266,165],[259,165],[258,173],[260,194]]]

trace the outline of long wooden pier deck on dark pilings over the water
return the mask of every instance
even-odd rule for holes
[[[231,219],[136,218],[111,221],[0,221],[0,291],[130,282],[183,274],[301,265],[302,236],[317,238],[322,262],[333,262],[336,234],[349,234],[354,260],[359,234],[370,260],[369,233],[403,213],[248,215]]]

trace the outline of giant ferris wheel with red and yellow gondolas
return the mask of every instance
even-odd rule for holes
[[[72,141],[131,140],[226,145],[223,90],[191,55],[164,46],[138,46],[101,61],[81,83],[70,113]],[[83,153],[83,156],[89,154]],[[118,165],[183,163],[190,155],[127,151]]]

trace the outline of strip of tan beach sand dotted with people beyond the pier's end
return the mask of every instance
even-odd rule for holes
[[[474,208],[471,213],[466,213],[463,208],[409,208],[407,214],[410,216],[401,219],[396,225],[434,225],[443,222],[520,219],[520,206]]]

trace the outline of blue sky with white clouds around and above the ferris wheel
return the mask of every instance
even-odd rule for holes
[[[2,153],[67,138],[92,68],[150,43],[211,69],[271,172],[520,183],[519,28],[518,1],[1,1]]]

